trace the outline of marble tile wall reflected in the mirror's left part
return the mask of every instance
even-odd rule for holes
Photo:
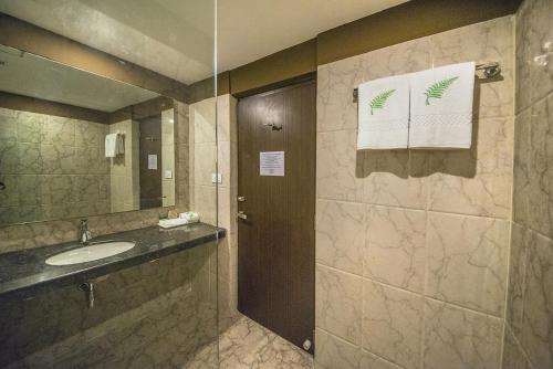
[[[107,126],[0,108],[0,226],[109,211]]]

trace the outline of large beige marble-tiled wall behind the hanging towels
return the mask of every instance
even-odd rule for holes
[[[508,278],[514,18],[317,71],[320,368],[499,368]],[[357,151],[361,82],[498,61],[477,82],[470,150]]]

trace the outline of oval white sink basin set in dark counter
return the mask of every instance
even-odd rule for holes
[[[109,257],[128,251],[135,246],[134,242],[109,241],[92,244],[84,247],[65,251],[46,259],[49,265],[71,265],[93,262],[98,259]]]

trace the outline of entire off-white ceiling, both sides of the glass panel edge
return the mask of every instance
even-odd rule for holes
[[[407,0],[218,0],[218,71]],[[208,0],[1,0],[0,12],[190,84],[213,74]]]

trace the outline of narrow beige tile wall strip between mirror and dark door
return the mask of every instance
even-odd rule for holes
[[[236,98],[227,94],[218,96],[217,103],[208,98],[190,105],[190,209],[204,222],[227,230],[227,236],[219,242],[218,264],[211,268],[211,285],[215,287],[218,281],[220,330],[238,318],[236,104]],[[222,176],[218,186],[211,181],[216,171]]]

